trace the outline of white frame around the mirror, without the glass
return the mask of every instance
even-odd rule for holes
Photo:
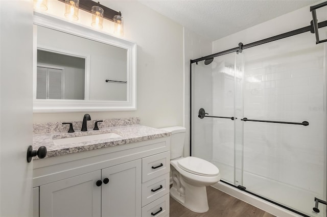
[[[58,100],[36,99],[36,53],[37,39],[34,36],[33,64],[33,113],[59,112],[105,112],[105,111],[135,111],[136,110],[136,44],[109,34],[98,32],[84,25],[71,23],[57,17],[34,12],[34,24],[45,28],[65,32],[94,41],[99,41],[127,50],[127,100]],[[92,73],[92,72],[91,72]]]

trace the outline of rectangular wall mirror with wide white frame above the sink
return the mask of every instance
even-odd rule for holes
[[[136,110],[136,44],[34,12],[34,113]]]

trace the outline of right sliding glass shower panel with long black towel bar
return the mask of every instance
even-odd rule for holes
[[[244,117],[309,126],[243,122],[243,186],[310,216],[326,216],[324,53],[310,33],[244,52]]]

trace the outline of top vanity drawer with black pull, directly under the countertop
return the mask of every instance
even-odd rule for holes
[[[142,182],[170,171],[170,151],[142,158]]]

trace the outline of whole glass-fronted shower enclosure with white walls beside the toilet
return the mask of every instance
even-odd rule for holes
[[[191,64],[191,155],[225,184],[326,217],[313,212],[326,201],[326,44],[308,32]]]

